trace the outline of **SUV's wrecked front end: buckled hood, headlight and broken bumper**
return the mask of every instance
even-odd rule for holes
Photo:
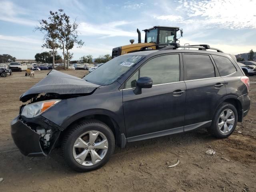
[[[20,101],[30,103],[20,107],[19,115],[11,122],[12,138],[22,154],[46,156],[54,148],[63,129],[41,114],[69,98],[93,94],[99,85],[52,70],[40,82],[20,96]]]

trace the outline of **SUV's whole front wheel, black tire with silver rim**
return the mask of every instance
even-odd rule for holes
[[[112,130],[99,120],[84,120],[64,136],[62,151],[67,164],[78,172],[98,169],[114,152]]]

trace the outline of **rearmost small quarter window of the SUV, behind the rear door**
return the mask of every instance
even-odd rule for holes
[[[216,63],[220,76],[227,76],[236,72],[235,66],[228,58],[218,55],[212,55],[212,58]]]

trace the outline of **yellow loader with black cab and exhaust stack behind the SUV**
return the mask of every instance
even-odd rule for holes
[[[179,27],[154,26],[143,31],[145,32],[144,43],[141,42],[140,30],[137,29],[138,43],[134,43],[134,40],[131,39],[131,44],[113,48],[112,58],[140,50],[161,49],[170,43],[176,43],[178,41],[178,31],[180,31],[180,37],[183,35],[183,30]]]

